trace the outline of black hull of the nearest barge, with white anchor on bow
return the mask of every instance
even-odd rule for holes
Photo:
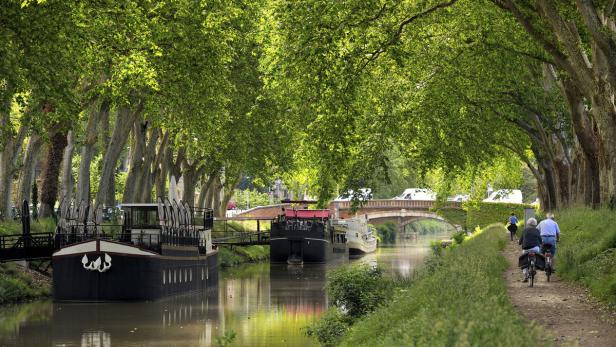
[[[84,246],[92,245],[82,244],[75,252],[69,249],[61,253],[61,250],[53,256],[54,300],[155,300],[207,290],[218,283],[217,252],[208,256],[183,256],[184,250],[177,249],[175,255],[164,255],[165,251],[160,255],[122,245],[128,252],[119,253],[101,250],[111,242],[89,242],[102,243],[103,247],[99,244],[98,250],[88,251]],[[131,251],[137,254],[130,254]],[[106,259],[110,261],[105,262]]]

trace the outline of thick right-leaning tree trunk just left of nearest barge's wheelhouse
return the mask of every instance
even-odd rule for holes
[[[105,156],[103,157],[103,168],[101,171],[101,181],[96,194],[96,203],[105,206],[114,206],[115,199],[109,200],[109,190],[112,189],[110,183],[115,179],[115,170],[122,153],[122,149],[126,144],[126,139],[130,133],[132,125],[143,111],[143,104],[139,103],[137,109],[131,112],[128,107],[120,106],[116,117],[113,134],[107,146]]]

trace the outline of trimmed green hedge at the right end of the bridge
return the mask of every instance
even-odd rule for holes
[[[508,204],[494,202],[468,201],[463,208],[467,213],[466,226],[468,228],[485,227],[492,223],[507,223],[511,213],[515,213],[518,219],[524,219],[524,209],[534,208],[525,204]]]

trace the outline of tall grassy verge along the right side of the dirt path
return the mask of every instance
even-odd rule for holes
[[[581,282],[592,294],[616,307],[616,212],[576,208],[556,213],[561,242],[558,274]]]

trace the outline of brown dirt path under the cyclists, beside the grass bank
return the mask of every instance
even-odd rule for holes
[[[510,242],[504,255],[510,263],[503,276],[511,301],[524,317],[545,328],[550,334],[546,339],[552,339],[557,346],[616,346],[613,313],[593,302],[587,291],[554,275],[548,283],[543,272],[535,277],[535,286],[529,288],[517,268],[517,242]]]

